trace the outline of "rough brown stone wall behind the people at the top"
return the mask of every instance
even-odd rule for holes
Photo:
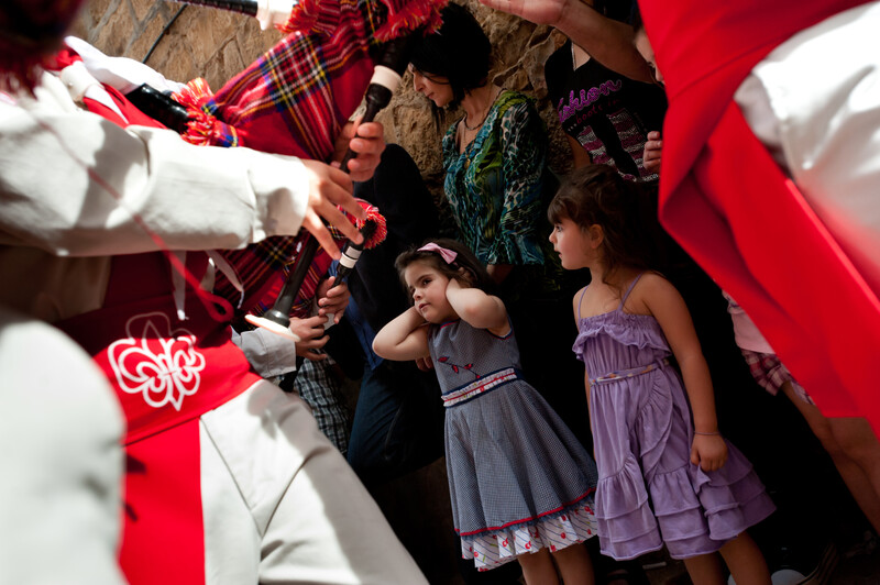
[[[547,100],[543,81],[543,62],[564,38],[547,26],[495,12],[476,0],[463,3],[476,14],[495,47],[492,79],[538,100],[551,139],[550,166],[564,173],[570,164],[569,146]],[[89,0],[74,34],[109,55],[138,60],[148,55],[146,64],[169,79],[204,77],[213,88],[221,87],[279,38],[279,33],[261,31],[248,16],[156,0]],[[448,117],[449,122],[454,115]],[[403,145],[413,155],[440,200],[442,132],[436,130],[429,103],[413,90],[408,74],[380,120],[386,141]]]

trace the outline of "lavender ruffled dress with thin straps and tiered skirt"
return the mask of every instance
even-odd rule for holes
[[[634,559],[664,543],[673,559],[715,552],[776,508],[727,442],[724,466],[690,462],[693,423],[672,352],[652,316],[620,307],[581,318],[574,353],[590,375],[602,553]]]

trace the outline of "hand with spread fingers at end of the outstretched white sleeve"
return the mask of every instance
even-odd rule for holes
[[[366,211],[352,197],[352,179],[349,175],[318,161],[302,161],[309,173],[309,205],[302,228],[308,230],[327,251],[330,257],[339,260],[339,246],[333,242],[330,232],[321,221],[326,219],[339,229],[349,240],[360,244],[363,242],[361,232],[354,224],[345,219],[337,206],[358,219],[366,219]]]

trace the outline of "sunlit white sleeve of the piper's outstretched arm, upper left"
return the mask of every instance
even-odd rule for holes
[[[0,106],[0,244],[63,255],[156,250],[138,220],[172,250],[294,234],[309,190],[296,158],[40,107]]]

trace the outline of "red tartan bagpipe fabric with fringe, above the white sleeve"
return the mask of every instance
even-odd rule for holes
[[[292,31],[211,96],[207,84],[178,95],[195,143],[249,146],[327,161],[373,73],[369,49],[422,23],[439,24],[446,0],[304,0]],[[386,19],[392,19],[386,22]]]

